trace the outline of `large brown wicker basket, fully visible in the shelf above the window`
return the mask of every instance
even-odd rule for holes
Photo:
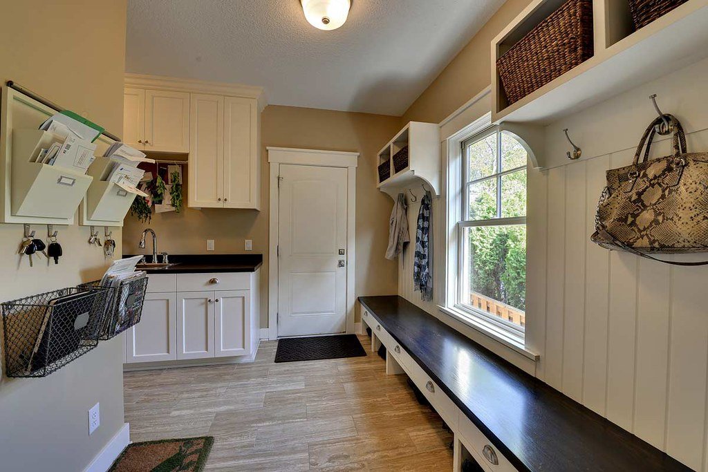
[[[569,0],[496,62],[509,105],[593,57],[593,2]]]

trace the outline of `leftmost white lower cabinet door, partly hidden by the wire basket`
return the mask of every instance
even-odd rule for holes
[[[126,362],[177,359],[175,294],[145,295],[140,322],[125,331]]]

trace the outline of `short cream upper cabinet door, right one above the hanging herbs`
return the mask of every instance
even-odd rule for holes
[[[189,152],[189,93],[145,91],[144,149]]]

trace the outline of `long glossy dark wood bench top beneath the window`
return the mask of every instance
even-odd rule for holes
[[[690,471],[401,297],[360,303],[519,471]]]

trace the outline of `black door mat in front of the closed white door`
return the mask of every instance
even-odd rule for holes
[[[275,362],[316,361],[365,356],[366,351],[355,334],[285,338],[278,340]]]

